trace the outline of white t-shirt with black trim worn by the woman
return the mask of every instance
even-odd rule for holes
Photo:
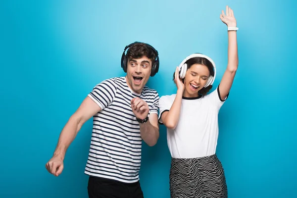
[[[163,124],[161,115],[170,110],[175,96],[162,96],[159,99],[159,124]],[[220,99],[218,88],[202,98],[183,97],[176,128],[167,128],[167,144],[173,158],[215,154],[219,134],[218,113],[226,99]]]

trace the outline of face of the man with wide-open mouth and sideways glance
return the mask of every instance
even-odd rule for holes
[[[138,94],[142,92],[148,82],[151,67],[151,60],[147,56],[128,59],[126,80],[130,89]]]

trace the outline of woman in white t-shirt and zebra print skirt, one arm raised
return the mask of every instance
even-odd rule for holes
[[[227,198],[221,162],[216,156],[218,112],[228,98],[238,67],[236,19],[226,6],[220,19],[228,26],[228,65],[210,94],[216,71],[211,58],[188,56],[174,73],[177,93],[159,99],[159,123],[167,127],[172,160],[171,198]]]

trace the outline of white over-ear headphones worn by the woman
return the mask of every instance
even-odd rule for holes
[[[189,55],[188,57],[186,57],[182,62],[181,64],[178,66],[179,67],[179,76],[181,79],[184,79],[185,76],[186,76],[186,72],[187,72],[187,69],[188,69],[188,66],[187,66],[187,60],[191,59],[191,58],[194,58],[194,57],[201,57],[201,58],[206,58],[207,60],[209,60],[213,66],[213,70],[214,70],[214,76],[210,75],[206,84],[204,85],[204,87],[208,87],[209,85],[212,85],[212,83],[214,82],[214,79],[215,79],[215,74],[216,74],[216,70],[215,70],[215,64],[213,62],[213,60],[208,57],[207,55],[204,55],[204,54],[201,54],[201,53],[193,53],[191,55]]]

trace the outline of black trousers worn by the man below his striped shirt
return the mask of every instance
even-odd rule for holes
[[[127,184],[99,177],[89,177],[89,198],[144,198],[139,182]]]

